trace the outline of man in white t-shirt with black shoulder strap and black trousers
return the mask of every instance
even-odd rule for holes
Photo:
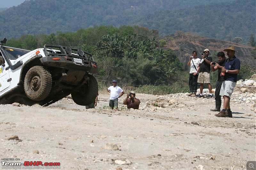
[[[189,79],[188,79],[188,86],[190,89],[190,93],[187,94],[187,96],[195,97],[196,96],[196,90],[197,90],[197,78],[198,78],[198,71],[200,67],[198,67],[198,64],[200,63],[200,59],[197,58],[197,52],[193,51],[192,56],[189,56],[188,66],[190,66],[189,69]]]

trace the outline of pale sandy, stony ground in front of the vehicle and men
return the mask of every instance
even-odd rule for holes
[[[233,118],[220,118],[210,111],[214,99],[172,94],[161,97],[178,104],[155,107],[160,96],[136,97],[141,110],[125,109],[125,95],[119,110],[105,109],[105,92],[88,110],[71,97],[48,107],[0,105],[1,162],[60,163],[16,166],[21,169],[246,169],[247,161],[256,160],[250,104],[231,100]],[[19,140],[6,140],[12,135]]]

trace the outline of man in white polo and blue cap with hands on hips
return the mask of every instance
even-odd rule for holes
[[[110,98],[109,98],[109,106],[114,109],[118,109],[118,98],[124,95],[124,90],[122,90],[119,86],[117,86],[117,81],[113,80],[112,81],[113,86],[110,86],[107,91],[110,93]],[[119,93],[121,93],[119,95]]]

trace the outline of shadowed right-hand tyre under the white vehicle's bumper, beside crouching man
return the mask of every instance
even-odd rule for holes
[[[82,106],[90,105],[98,95],[98,82],[91,74],[89,80],[79,89],[71,93],[73,101]]]

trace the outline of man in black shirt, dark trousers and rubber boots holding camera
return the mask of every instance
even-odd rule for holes
[[[220,88],[221,88],[221,84],[222,84],[222,80],[221,80],[221,69],[224,68],[225,63],[226,63],[226,58],[225,58],[225,53],[224,52],[219,52],[217,54],[218,57],[218,62],[214,63],[211,62],[211,68],[212,68],[212,72],[218,70],[218,80],[216,82],[216,89],[215,89],[215,109],[211,109],[211,111],[220,111],[220,107],[221,107],[221,96],[220,96]],[[215,65],[215,66],[213,66]]]

